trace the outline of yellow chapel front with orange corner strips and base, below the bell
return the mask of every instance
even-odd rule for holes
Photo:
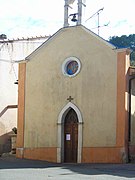
[[[123,163],[131,151],[133,157],[129,55],[78,25],[60,29],[22,61],[17,157],[77,163]]]

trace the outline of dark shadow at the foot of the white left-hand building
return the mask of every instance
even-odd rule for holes
[[[0,155],[11,152],[11,136],[12,131],[0,136]]]

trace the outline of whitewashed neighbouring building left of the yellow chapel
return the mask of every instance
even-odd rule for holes
[[[0,40],[0,154],[11,150],[10,132],[17,127],[18,62],[48,36]]]

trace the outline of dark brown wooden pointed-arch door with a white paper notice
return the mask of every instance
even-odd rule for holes
[[[78,118],[73,109],[70,109],[64,122],[64,162],[77,162],[78,152]]]

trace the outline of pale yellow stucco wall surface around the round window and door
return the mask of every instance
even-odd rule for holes
[[[62,74],[63,61],[75,56],[81,71]],[[57,147],[57,121],[71,95],[83,117],[83,147],[116,144],[117,54],[80,26],[65,28],[26,64],[25,147]]]

